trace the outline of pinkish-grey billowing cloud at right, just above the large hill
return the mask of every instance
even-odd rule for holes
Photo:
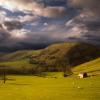
[[[69,34],[67,39],[84,41],[92,44],[100,44],[100,22],[96,17],[82,11],[75,18],[69,20],[66,24]]]

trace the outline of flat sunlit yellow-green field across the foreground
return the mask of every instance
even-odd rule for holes
[[[100,76],[8,76],[0,80],[0,100],[100,100]]]

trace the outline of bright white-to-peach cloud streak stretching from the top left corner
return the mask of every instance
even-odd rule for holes
[[[0,5],[11,10],[31,11],[35,15],[44,17],[60,17],[66,12],[65,7],[61,6],[46,6],[43,3],[38,3],[35,0],[1,0]],[[27,6],[26,6],[27,5]]]

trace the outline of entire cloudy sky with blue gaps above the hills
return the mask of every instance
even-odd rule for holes
[[[0,49],[63,41],[100,44],[100,0],[0,0]]]

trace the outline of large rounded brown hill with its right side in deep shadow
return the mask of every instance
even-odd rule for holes
[[[39,64],[48,70],[61,70],[74,67],[100,57],[100,48],[78,42],[54,44],[33,55],[34,64]],[[65,69],[64,69],[65,70]]]

